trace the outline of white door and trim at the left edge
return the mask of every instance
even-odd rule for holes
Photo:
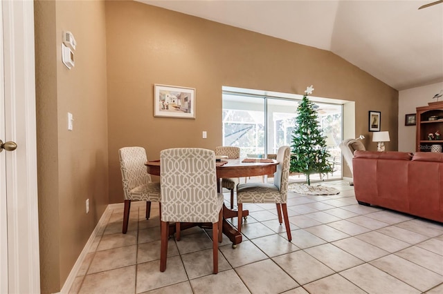
[[[39,293],[33,1],[0,2],[0,293]]]

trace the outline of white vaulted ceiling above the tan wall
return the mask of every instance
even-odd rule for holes
[[[153,6],[329,50],[404,90],[443,81],[443,3],[150,1]]]

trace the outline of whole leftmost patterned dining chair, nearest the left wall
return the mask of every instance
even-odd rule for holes
[[[146,150],[143,147],[123,147],[118,150],[122,172],[125,210],[123,213],[123,234],[127,232],[129,210],[132,201],[146,202],[146,218],[150,218],[151,202],[160,202],[160,182],[152,182],[147,173]],[[161,204],[159,204],[161,205]]]

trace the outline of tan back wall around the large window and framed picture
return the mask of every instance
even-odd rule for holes
[[[368,110],[381,111],[386,147],[397,148],[397,90],[332,52],[138,2],[106,9],[112,203],[123,200],[118,148],[143,146],[158,159],[163,148],[221,144],[221,86],[303,94],[313,84],[317,97],[356,102],[355,133],[370,150]],[[154,117],[154,84],[196,88],[196,119]]]

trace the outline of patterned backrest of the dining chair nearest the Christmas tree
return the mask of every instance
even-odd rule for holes
[[[289,167],[291,164],[291,148],[281,146],[278,148],[277,171],[274,173],[274,185],[280,190],[282,203],[286,203],[288,197]]]

